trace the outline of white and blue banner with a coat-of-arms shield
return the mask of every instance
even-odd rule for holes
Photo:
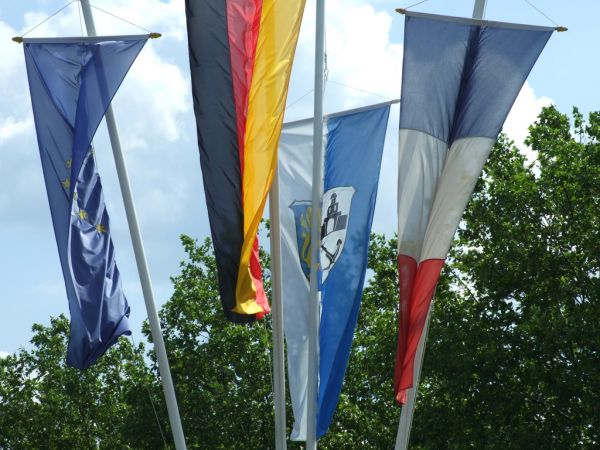
[[[386,103],[329,116],[324,127],[319,437],[327,431],[337,406],[358,318],[389,110]],[[279,208],[293,440],[306,440],[312,146],[312,119],[284,126]]]

